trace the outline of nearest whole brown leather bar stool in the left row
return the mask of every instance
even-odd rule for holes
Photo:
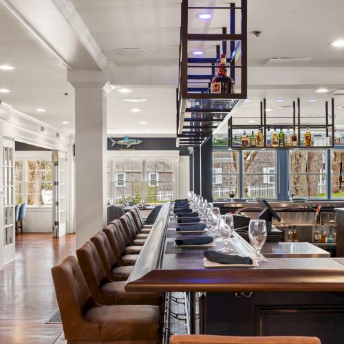
[[[159,308],[155,305],[99,305],[87,287],[76,257],[52,268],[67,344],[158,344]]]

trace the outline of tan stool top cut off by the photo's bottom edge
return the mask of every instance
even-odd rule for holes
[[[171,344],[321,344],[316,337],[303,336],[212,336],[185,334],[171,336]]]

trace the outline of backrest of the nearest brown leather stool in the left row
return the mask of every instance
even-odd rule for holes
[[[83,318],[83,314],[89,308],[96,307],[97,304],[92,299],[76,257],[69,256],[54,266],[52,279],[65,337],[80,338],[80,333],[86,327],[88,333],[94,327],[94,334],[98,334],[98,325],[91,324],[89,326],[89,323]]]

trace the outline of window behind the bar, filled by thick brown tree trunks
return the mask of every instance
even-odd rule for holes
[[[289,185],[294,197],[326,197],[326,151],[290,151]]]

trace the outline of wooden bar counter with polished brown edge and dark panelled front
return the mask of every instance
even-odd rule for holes
[[[254,268],[204,268],[204,248],[173,246],[181,235],[169,219],[166,203],[126,290],[192,292],[199,309],[195,332],[310,335],[344,343],[344,258],[270,258]],[[236,233],[231,241],[241,255],[252,250]],[[221,239],[215,244],[222,245]]]

